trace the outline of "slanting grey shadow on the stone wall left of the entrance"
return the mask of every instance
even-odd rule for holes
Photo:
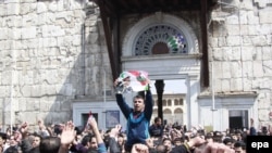
[[[77,0],[77,2],[81,3],[82,1]],[[51,105],[49,114],[46,115],[46,124],[60,124],[71,120],[73,118],[72,103],[76,98],[88,97],[90,99],[101,98],[102,100],[103,77],[100,76],[103,75],[101,69],[103,69],[103,63],[107,60],[104,59],[107,58],[107,51],[101,49],[104,46],[104,38],[99,35],[101,27],[99,27],[98,21],[92,20],[98,16],[95,14],[94,5],[86,8],[84,11],[86,20],[83,21],[84,23],[81,26],[81,38],[78,38],[81,43],[72,47],[60,47],[62,48],[61,52],[65,53],[62,59],[64,62],[61,62],[64,64],[57,65],[55,68],[58,69],[55,71],[58,77],[66,77],[66,79],[60,84],[61,88],[57,91],[54,103]],[[74,41],[77,40],[72,39],[70,43],[73,44]],[[69,71],[70,73],[66,75]]]

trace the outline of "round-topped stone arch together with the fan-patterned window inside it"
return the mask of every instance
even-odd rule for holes
[[[170,54],[199,53],[197,37],[188,23],[174,15],[156,13],[141,18],[128,30],[123,42],[123,56],[150,55],[158,42],[166,43]]]

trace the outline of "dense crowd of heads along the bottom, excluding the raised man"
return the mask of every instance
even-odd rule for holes
[[[62,145],[62,131],[65,124],[45,126],[42,122],[38,123],[38,130],[30,132],[27,129],[27,123],[18,127],[9,127],[0,132],[0,153],[58,153]],[[252,127],[251,127],[252,128]],[[271,135],[268,128],[252,129],[232,129],[225,131],[206,131],[202,127],[193,127],[187,129],[185,125],[163,125],[160,117],[156,117],[149,128],[150,139],[146,144],[135,144],[131,152],[150,152],[150,153],[175,153],[178,146],[189,146],[190,152],[208,153],[221,149],[225,152],[246,152],[246,138],[250,135]],[[103,143],[109,153],[125,153],[126,133],[116,125],[106,131],[99,130]],[[73,127],[75,135],[73,141],[69,144],[70,153],[95,153],[99,152],[97,138],[92,129],[86,129],[83,126]],[[112,141],[115,141],[112,144]],[[114,149],[112,149],[114,146]],[[81,149],[82,148],[82,149]]]

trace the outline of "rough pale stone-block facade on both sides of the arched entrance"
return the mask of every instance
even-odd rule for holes
[[[258,112],[251,117],[268,125],[272,112],[272,2],[225,2],[211,12],[208,26],[215,100],[257,93]],[[185,16],[200,40],[196,12],[174,15]],[[122,21],[122,42],[139,20],[127,16]],[[63,123],[72,119],[72,104],[78,99],[102,102],[103,92],[109,91],[107,99],[113,100],[103,28],[92,2],[0,1],[0,59],[2,125],[25,120],[34,125],[39,118],[46,124]],[[201,88],[200,94],[211,100],[211,91]]]

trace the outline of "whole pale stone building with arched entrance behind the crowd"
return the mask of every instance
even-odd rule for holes
[[[248,127],[250,118],[257,127],[269,125],[271,5],[270,0],[1,0],[0,124],[35,125],[41,118],[83,125],[91,110],[101,128],[125,125],[113,77],[143,69],[153,82],[185,80],[176,85],[185,89],[183,106],[164,106],[168,120],[180,115],[188,127],[217,130]],[[163,97],[166,103],[170,97]]]

